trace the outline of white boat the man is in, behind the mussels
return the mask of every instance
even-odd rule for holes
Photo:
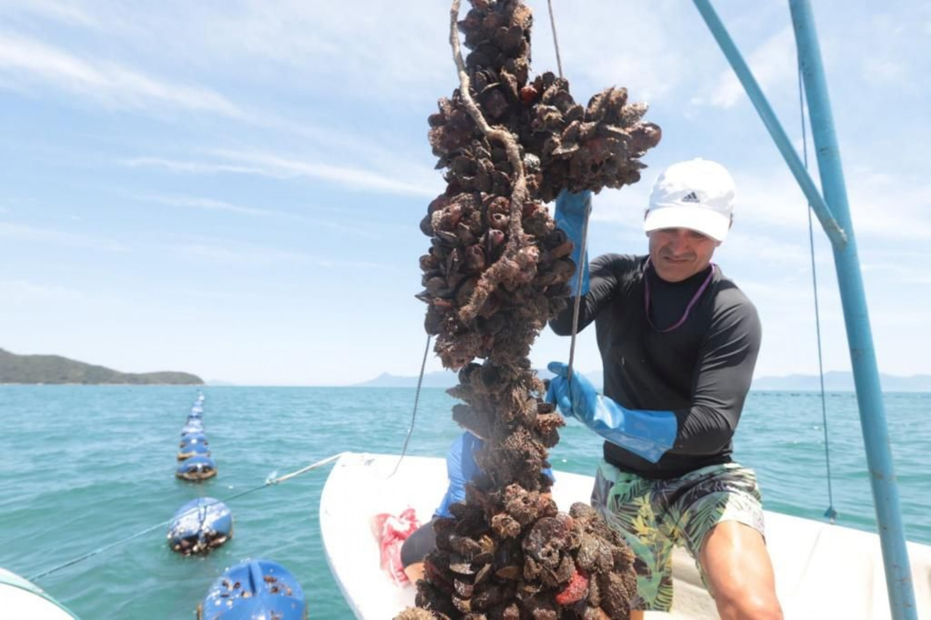
[[[371,532],[376,515],[408,507],[429,520],[446,491],[442,458],[346,452],[333,465],[320,497],[320,533],[327,562],[359,620],[394,617],[414,604],[415,588],[396,585],[380,565]],[[398,471],[392,471],[398,465]],[[588,503],[594,478],[556,471],[553,499],[568,512]],[[360,492],[364,490],[364,492]],[[876,534],[828,522],[765,512],[766,542],[776,570],[776,592],[787,620],[890,618],[883,556]],[[918,617],[931,620],[931,546],[908,543]],[[695,562],[684,549],[673,554],[674,599],[670,613],[650,620],[718,618]]]

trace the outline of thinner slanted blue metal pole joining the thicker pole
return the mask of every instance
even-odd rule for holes
[[[711,34],[713,34],[714,38],[718,41],[718,45],[721,46],[727,61],[731,63],[731,68],[734,69],[737,79],[740,80],[744,90],[747,91],[747,95],[750,101],[753,102],[753,107],[756,108],[757,114],[760,115],[763,125],[769,129],[769,135],[773,137],[773,141],[776,142],[779,153],[782,154],[783,159],[786,160],[786,164],[789,165],[789,170],[791,170],[792,174],[795,176],[795,180],[799,182],[799,186],[808,199],[808,203],[815,211],[818,221],[821,222],[825,232],[828,234],[831,244],[833,244],[835,248],[843,247],[843,244],[846,242],[846,237],[843,234],[842,227],[834,220],[834,216],[831,214],[828,204],[824,201],[824,198],[821,197],[821,193],[818,191],[815,182],[812,181],[812,178],[808,175],[808,170],[805,169],[802,160],[799,158],[799,154],[795,152],[795,147],[793,147],[792,142],[789,141],[789,136],[786,135],[785,129],[782,128],[779,119],[776,118],[776,113],[774,113],[773,108],[770,107],[769,101],[766,101],[766,96],[762,94],[762,89],[760,85],[757,84],[756,78],[754,78],[753,74],[750,72],[747,62],[744,61],[743,56],[740,55],[740,51],[734,45],[731,35],[727,34],[727,29],[724,28],[721,18],[718,17],[714,8],[711,7],[709,0],[695,0],[695,7],[698,9],[698,12],[701,13],[705,23],[708,24],[708,30],[711,31]]]

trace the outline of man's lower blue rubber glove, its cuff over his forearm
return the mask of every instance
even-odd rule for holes
[[[556,374],[549,382],[546,399],[556,403],[562,415],[572,416],[601,437],[655,463],[676,441],[679,422],[672,411],[627,409],[611,398],[601,396],[583,375],[569,367],[550,362],[547,367]]]

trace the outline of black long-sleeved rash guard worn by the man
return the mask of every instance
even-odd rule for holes
[[[711,269],[711,267],[708,267]],[[760,318],[747,296],[716,267],[708,288],[682,325],[675,325],[708,270],[676,283],[659,276],[646,256],[607,254],[591,263],[579,330],[593,320],[604,367],[604,394],[627,409],[672,411],[675,445],[655,464],[604,442],[604,460],[645,478],[677,478],[731,461],[731,438],[760,351]],[[650,320],[644,308],[650,281]],[[572,332],[572,304],[549,322]]]

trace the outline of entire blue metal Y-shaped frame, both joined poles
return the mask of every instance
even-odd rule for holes
[[[807,0],[789,0],[805,93],[808,97],[818,169],[821,184],[824,187],[823,199],[804,170],[789,138],[779,125],[776,115],[750,73],[747,63],[735,47],[730,35],[727,34],[727,30],[710,2],[708,0],[694,0],[694,2],[698,12],[708,24],[711,34],[722,48],[724,56],[731,63],[731,67],[747,91],[750,100],[753,101],[763,124],[769,129],[776,141],[776,146],[802,186],[805,196],[832,242],[834,264],[843,303],[843,319],[854,369],[854,384],[857,387],[860,425],[866,444],[867,463],[870,467],[873,505],[876,509],[880,544],[883,549],[889,606],[895,620],[917,620],[915,595],[911,584],[911,566],[906,550],[898,487],[885,423],[883,392],[872,344],[870,317],[867,313],[866,294],[863,290],[863,278],[857,258],[857,243],[850,219],[850,206],[843,181],[840,149],[834,133],[828,88],[811,7]],[[801,168],[801,170],[796,168]],[[834,214],[837,216],[836,221]]]

